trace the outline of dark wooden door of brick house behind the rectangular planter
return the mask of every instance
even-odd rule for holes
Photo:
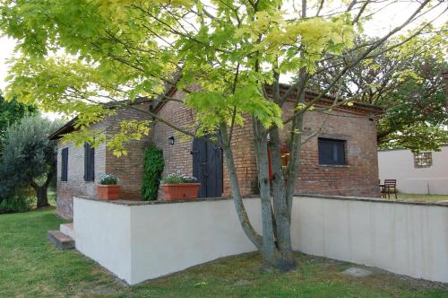
[[[221,148],[206,140],[194,139],[192,153],[193,176],[201,182],[198,197],[222,197]]]

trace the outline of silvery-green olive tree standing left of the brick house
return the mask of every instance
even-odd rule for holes
[[[38,208],[48,206],[47,188],[54,175],[57,149],[56,142],[47,136],[58,125],[36,115],[8,128],[0,161],[2,197],[11,197],[18,187],[29,186],[36,192]]]

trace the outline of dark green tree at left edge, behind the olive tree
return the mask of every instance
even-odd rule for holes
[[[37,108],[13,99],[12,101],[4,100],[0,91],[0,155],[3,148],[4,134],[8,127],[17,123],[20,119],[27,115],[37,113]]]

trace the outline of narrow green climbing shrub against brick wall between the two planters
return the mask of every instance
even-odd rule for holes
[[[164,167],[163,153],[155,145],[150,145],[143,156],[143,185],[142,200],[152,201],[157,199],[160,175]]]

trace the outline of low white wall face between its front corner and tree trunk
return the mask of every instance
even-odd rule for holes
[[[260,200],[244,202],[261,231]],[[130,284],[213,259],[254,251],[231,200],[131,206]]]

